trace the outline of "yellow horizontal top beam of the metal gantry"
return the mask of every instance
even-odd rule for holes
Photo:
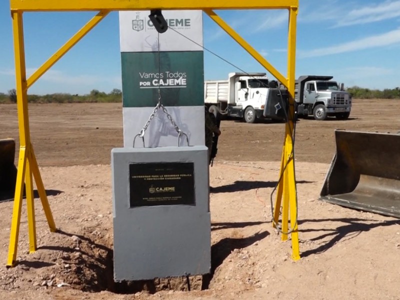
[[[298,0],[10,0],[11,10],[262,9],[298,6]]]

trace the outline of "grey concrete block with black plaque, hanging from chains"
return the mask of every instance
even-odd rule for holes
[[[114,148],[111,168],[114,279],[208,273],[207,148]]]

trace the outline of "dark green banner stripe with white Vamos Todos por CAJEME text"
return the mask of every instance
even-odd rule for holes
[[[158,64],[159,62],[159,64]],[[123,107],[204,104],[203,51],[122,52]]]

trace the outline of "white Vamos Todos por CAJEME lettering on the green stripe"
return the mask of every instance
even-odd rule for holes
[[[140,88],[173,88],[173,87],[186,87],[186,72],[169,72],[162,73],[147,73],[139,72]]]

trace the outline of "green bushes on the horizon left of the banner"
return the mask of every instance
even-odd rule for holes
[[[8,90],[8,93],[0,92],[0,103],[15,103],[15,89]],[[114,88],[109,93],[93,89],[89,94],[78,95],[69,93],[53,93],[46,95],[28,94],[28,102],[31,103],[83,103],[83,102],[122,102],[122,92]]]

